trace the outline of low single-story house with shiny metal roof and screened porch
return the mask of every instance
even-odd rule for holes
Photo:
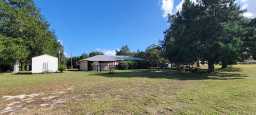
[[[79,70],[89,71],[92,70],[92,65],[97,64],[99,70],[115,70],[115,66],[118,65],[118,61],[122,60],[143,60],[136,57],[122,56],[122,55],[96,55],[84,60],[77,62],[79,65]]]

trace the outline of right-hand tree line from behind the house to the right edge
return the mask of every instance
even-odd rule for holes
[[[182,10],[168,15],[170,28],[158,45],[150,45],[145,52],[131,52],[125,45],[116,55],[146,59],[151,66],[161,63],[199,65],[208,62],[208,71],[221,62],[229,64],[256,60],[256,19],[246,18],[235,0],[185,0]]]

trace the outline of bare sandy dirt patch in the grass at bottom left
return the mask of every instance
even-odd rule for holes
[[[60,89],[58,89],[55,91],[47,91],[42,94],[33,93],[33,94],[21,94],[21,95],[15,95],[15,96],[3,96],[5,100],[3,100],[2,103],[9,102],[9,104],[1,105],[0,109],[2,109],[3,111],[1,111],[0,113],[12,114],[12,113],[15,113],[15,112],[12,112],[13,109],[28,110],[28,109],[42,108],[42,107],[47,109],[53,109],[61,103],[64,103],[68,100],[75,99],[75,98],[71,98],[71,95],[66,94],[67,92],[73,92],[73,88],[74,86],[71,86],[65,89],[65,91],[61,91]],[[55,92],[54,93],[55,95],[53,95],[51,92]],[[21,111],[18,111],[18,112],[22,113]]]

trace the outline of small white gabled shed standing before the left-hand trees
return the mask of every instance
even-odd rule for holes
[[[32,58],[32,73],[57,72],[58,58],[51,55],[40,55]]]

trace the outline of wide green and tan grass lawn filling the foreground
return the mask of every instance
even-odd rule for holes
[[[217,71],[0,73],[0,113],[255,114],[256,65]]]

